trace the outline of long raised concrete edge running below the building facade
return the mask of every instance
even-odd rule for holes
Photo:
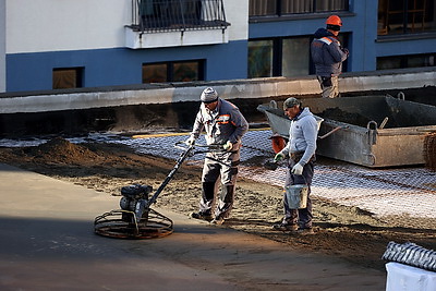
[[[233,82],[198,82],[185,86],[149,86],[121,90],[72,92],[31,96],[2,96],[0,113],[49,112],[118,106],[198,101],[206,86],[225,99],[266,98],[320,94],[314,76],[299,80],[277,77]],[[342,93],[436,86],[436,70],[389,74],[342,75]]]

